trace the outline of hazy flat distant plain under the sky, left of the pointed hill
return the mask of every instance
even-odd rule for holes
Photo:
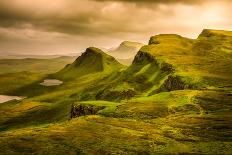
[[[28,71],[33,73],[55,73],[73,62],[75,57],[62,56],[51,59],[0,59],[0,74]]]

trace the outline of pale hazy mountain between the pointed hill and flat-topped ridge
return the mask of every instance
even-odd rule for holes
[[[143,45],[138,42],[124,41],[117,48],[110,49],[107,53],[119,61],[131,60]],[[122,61],[122,63],[124,62]]]

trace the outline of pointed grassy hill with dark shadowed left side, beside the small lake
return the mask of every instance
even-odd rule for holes
[[[72,64],[67,65],[55,74],[56,77],[68,80],[98,72],[113,72],[122,68],[117,60],[105,54],[102,50],[90,47]]]

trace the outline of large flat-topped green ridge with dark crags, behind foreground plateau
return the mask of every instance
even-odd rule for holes
[[[211,37],[204,37],[205,31],[210,31]],[[86,93],[95,94],[92,99],[112,101],[163,91],[230,89],[232,56],[224,49],[232,47],[231,38],[228,35],[222,40],[219,31],[216,32],[204,30],[196,40],[175,34],[153,36],[149,45],[137,53],[131,66]],[[210,50],[211,46],[214,49]]]

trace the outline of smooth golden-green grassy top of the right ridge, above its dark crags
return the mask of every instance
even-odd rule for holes
[[[197,83],[201,88],[220,87],[230,85],[232,75],[231,36],[225,34],[231,32],[203,30],[196,40],[181,37],[163,40],[163,36],[155,36],[141,50],[161,56],[175,67],[175,75],[186,82]]]

